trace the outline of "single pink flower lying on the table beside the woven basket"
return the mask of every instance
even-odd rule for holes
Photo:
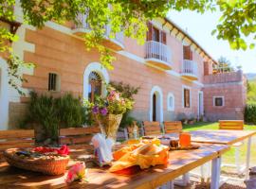
[[[85,163],[76,163],[68,170],[65,181],[67,183],[70,183],[74,180],[84,180],[85,175]]]

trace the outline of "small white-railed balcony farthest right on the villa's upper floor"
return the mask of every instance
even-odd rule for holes
[[[181,76],[197,80],[197,63],[193,60],[183,60]]]

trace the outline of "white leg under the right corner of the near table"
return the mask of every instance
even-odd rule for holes
[[[221,157],[217,157],[211,162],[210,189],[219,189],[221,171]]]

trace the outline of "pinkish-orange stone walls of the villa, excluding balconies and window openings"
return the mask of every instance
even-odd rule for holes
[[[129,38],[124,38],[119,46],[120,49],[112,49],[117,58],[113,63],[115,69],[106,70],[99,63],[100,55],[97,50],[86,51],[84,49],[83,39],[77,35],[72,23],[61,26],[48,22],[42,29],[21,26],[18,33],[22,33],[22,40],[13,43],[13,46],[17,46],[16,50],[22,54],[23,60],[34,62],[35,68],[23,71],[27,82],[21,83],[21,87],[27,95],[17,97],[18,95],[15,94],[15,98],[6,99],[9,102],[9,127],[16,127],[24,115],[24,103],[29,98],[30,90],[38,94],[55,96],[72,92],[76,96],[87,98],[88,73],[92,71],[99,73],[102,80],[106,82],[122,81],[134,87],[140,87],[135,96],[135,108],[131,114],[141,121],[153,120],[153,94],[157,96],[156,120],[160,122],[179,119],[181,114],[186,114],[187,117],[200,117],[203,114],[203,110],[199,109],[203,103],[199,100],[200,93],[204,96],[203,108],[209,120],[220,118],[218,115],[220,109],[211,106],[212,95],[226,96],[226,106],[221,109],[225,112],[221,115],[225,117],[221,118],[242,118],[242,110],[245,106],[244,84],[234,84],[233,80],[225,80],[221,84],[215,82],[215,77],[211,78],[211,74],[212,64],[217,62],[172,22],[155,19],[152,21],[152,26],[161,33],[165,33],[164,44],[159,45],[167,46],[171,50],[171,54],[167,57],[171,62],[166,63],[170,63],[172,70],[164,70],[161,66],[149,64],[146,61],[146,46],[138,45],[135,40]],[[106,45],[109,43],[113,42],[110,41]],[[189,46],[188,49],[191,51],[190,61],[194,62],[193,66],[196,67],[194,75],[184,74],[184,45]],[[108,47],[113,46],[116,48],[117,43]],[[159,56],[156,59],[159,59]],[[60,78],[58,92],[48,92],[49,73],[55,73]],[[235,83],[240,82],[241,80],[235,80]],[[190,90],[189,107],[184,107],[185,88]],[[231,95],[231,91],[235,94]],[[12,96],[13,93],[10,94]],[[170,94],[173,96],[173,108],[171,109],[168,99]],[[233,101],[236,102],[235,105],[232,105]]]

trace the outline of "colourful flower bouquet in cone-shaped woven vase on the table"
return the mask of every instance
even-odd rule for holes
[[[101,133],[116,141],[122,114],[131,110],[133,104],[133,100],[123,97],[115,88],[108,85],[106,96],[97,96],[91,106],[92,114],[101,128]]]

